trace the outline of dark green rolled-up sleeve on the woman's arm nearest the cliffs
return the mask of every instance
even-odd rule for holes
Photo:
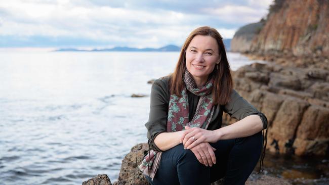
[[[235,89],[232,90],[230,102],[224,106],[224,112],[237,120],[250,115],[259,115],[263,123],[263,129],[267,128],[266,116],[242,98]]]

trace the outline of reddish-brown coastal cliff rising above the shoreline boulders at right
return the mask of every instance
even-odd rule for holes
[[[316,53],[328,57],[328,6],[328,0],[276,0],[270,7],[265,25],[259,31],[254,30],[252,39],[242,39],[250,37],[251,33],[234,35],[232,51],[291,52],[296,56]],[[238,40],[243,41],[235,44]]]

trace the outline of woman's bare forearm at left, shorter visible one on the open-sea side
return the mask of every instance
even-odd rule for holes
[[[154,144],[161,151],[169,150],[181,143],[180,138],[183,132],[184,130],[177,132],[162,132],[154,138]]]

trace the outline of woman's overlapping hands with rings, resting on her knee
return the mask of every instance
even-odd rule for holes
[[[184,145],[184,149],[190,149],[201,164],[205,166],[216,164],[214,153],[216,149],[209,144],[217,142],[214,131],[185,126],[180,141]]]

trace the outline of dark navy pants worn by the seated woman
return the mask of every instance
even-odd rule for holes
[[[201,164],[191,150],[182,144],[162,153],[160,166],[153,181],[158,184],[210,184],[225,176],[224,184],[244,184],[254,170],[263,147],[262,133],[212,143],[216,164],[207,167]]]

